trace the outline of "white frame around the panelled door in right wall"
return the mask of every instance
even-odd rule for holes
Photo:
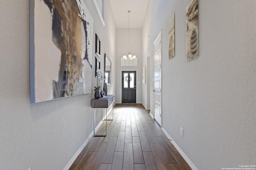
[[[158,33],[156,39],[154,40],[154,43],[153,43],[153,116],[154,116],[154,119],[155,119],[155,71],[154,71],[154,68],[155,68],[155,44],[157,43],[157,40],[160,39],[160,42],[162,42],[162,30],[160,31],[160,33]],[[161,56],[160,56],[160,114],[161,114],[161,122],[160,122],[160,127],[162,127],[162,43],[161,43],[161,47],[160,47],[160,53],[161,53]],[[157,122],[157,121],[156,121]]]

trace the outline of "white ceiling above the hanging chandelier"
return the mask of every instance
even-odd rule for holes
[[[110,0],[116,28],[142,28],[148,0]]]

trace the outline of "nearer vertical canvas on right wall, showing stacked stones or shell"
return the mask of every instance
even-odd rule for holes
[[[198,0],[186,8],[186,56],[187,61],[198,57]]]

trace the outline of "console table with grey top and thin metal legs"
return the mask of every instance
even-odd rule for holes
[[[106,136],[107,134],[107,120],[113,120],[113,114],[114,114],[114,106],[112,108],[113,114],[112,114],[112,119],[107,119],[107,108],[113,104],[115,101],[115,95],[108,94],[107,96],[104,96],[103,98],[99,99],[92,99],[91,100],[91,106],[94,108],[94,124],[93,124],[93,133],[94,136]],[[106,133],[105,135],[96,135],[95,134],[95,109],[96,108],[105,108],[104,109],[104,120],[106,120]]]

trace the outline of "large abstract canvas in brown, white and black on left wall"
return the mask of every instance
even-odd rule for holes
[[[30,0],[31,103],[91,92],[92,29],[82,0]]]

